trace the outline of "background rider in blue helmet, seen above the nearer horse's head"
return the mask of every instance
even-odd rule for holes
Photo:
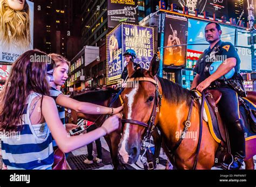
[[[124,70],[123,70],[123,73],[122,73],[122,75],[121,75],[121,78],[122,78],[122,80],[125,81],[126,78],[127,78],[127,76],[128,76],[128,71],[127,71],[127,68],[126,68],[128,62],[130,62],[130,61],[133,62],[133,67],[134,67],[134,69],[140,68],[140,65],[139,65],[138,63],[135,63],[135,62],[134,62],[134,59],[136,59],[137,56],[136,56],[136,52],[135,52],[133,49],[127,49],[127,50],[124,52],[123,56],[125,57],[125,64],[124,64],[125,68],[124,68]]]

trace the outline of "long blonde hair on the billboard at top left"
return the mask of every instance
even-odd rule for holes
[[[0,39],[5,48],[9,48],[10,44],[29,48],[30,17],[26,1],[23,10],[18,11],[11,9],[7,0],[0,0]]]

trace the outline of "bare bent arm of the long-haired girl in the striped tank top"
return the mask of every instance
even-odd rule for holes
[[[94,131],[79,136],[70,136],[59,119],[55,101],[48,96],[43,98],[42,114],[53,138],[64,153],[69,153],[72,150],[85,146],[119,127],[120,115],[114,115],[108,118],[102,127]]]

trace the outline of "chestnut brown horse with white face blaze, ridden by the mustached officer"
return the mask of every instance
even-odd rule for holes
[[[156,108],[156,117],[153,121],[163,136],[163,148],[167,157],[177,169],[192,169],[198,145],[200,107],[197,102],[191,106],[191,125],[187,134],[193,136],[183,139],[172,156],[169,150],[173,150],[179,140],[180,132],[184,131],[192,97],[190,91],[180,85],[156,76],[159,68],[159,61],[156,59],[155,55],[148,71],[134,70],[131,63],[127,65],[129,81],[136,82],[137,86],[125,88],[122,92],[125,123],[118,150],[120,159],[125,164],[133,164],[138,160],[147,131],[145,126],[152,121],[153,111]],[[156,98],[157,93],[163,96],[161,103]],[[254,167],[252,157],[256,154],[255,143],[256,136],[246,141],[246,169]],[[218,142],[213,139],[208,124],[203,121],[196,169],[211,169],[214,166],[217,148]]]

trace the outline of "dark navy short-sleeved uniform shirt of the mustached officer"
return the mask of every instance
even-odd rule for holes
[[[204,53],[199,57],[196,67],[194,67],[194,72],[199,74],[199,82],[203,82],[210,76],[209,68],[213,62],[224,62],[230,57],[237,59],[235,73],[238,73],[241,60],[234,46],[230,42],[223,42],[220,40],[212,49],[210,47],[205,49]]]

